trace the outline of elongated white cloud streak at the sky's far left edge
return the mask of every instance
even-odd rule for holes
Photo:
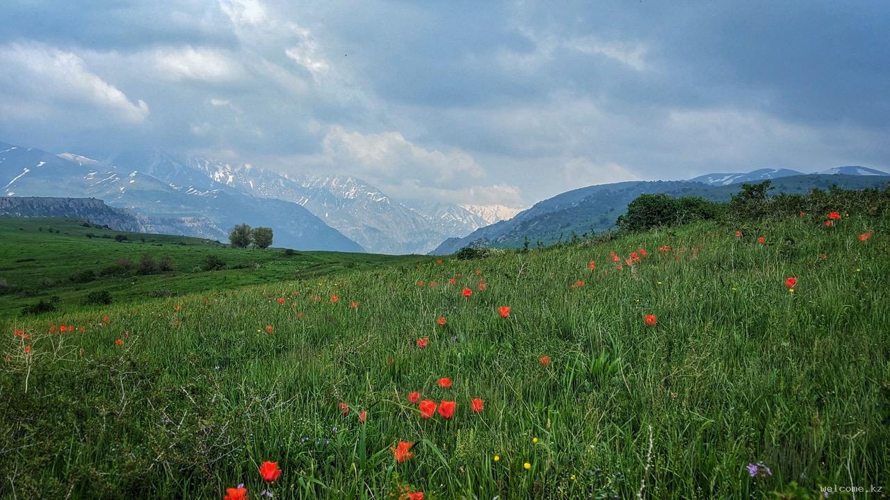
[[[109,110],[130,123],[142,123],[150,113],[145,101],[130,100],[74,52],[43,44],[6,44],[0,46],[0,68],[0,94],[18,94],[22,106],[46,109],[54,102],[74,102]],[[14,101],[4,103],[4,109],[16,107]]]

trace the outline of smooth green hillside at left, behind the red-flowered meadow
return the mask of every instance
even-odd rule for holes
[[[142,274],[146,254],[156,264],[169,257],[173,270]],[[220,269],[205,270],[208,256],[222,262],[216,266]],[[285,254],[281,248],[231,248],[201,238],[108,230],[70,219],[0,217],[0,316],[19,314],[41,300],[70,310],[84,305],[94,292],[108,292],[113,302],[134,302],[417,259]]]

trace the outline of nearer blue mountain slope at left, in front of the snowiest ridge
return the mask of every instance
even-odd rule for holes
[[[247,222],[271,227],[279,246],[364,251],[302,206],[232,190],[158,152],[127,153],[103,163],[39,149],[0,148],[0,185],[6,196],[100,198],[142,215],[149,230],[222,240],[232,226]]]

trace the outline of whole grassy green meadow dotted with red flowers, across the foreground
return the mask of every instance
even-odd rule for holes
[[[46,293],[61,310],[19,317],[25,299],[0,296],[0,496],[219,499],[239,483],[252,499],[400,498],[406,486],[427,499],[821,498],[832,485],[886,496],[890,220],[823,220],[391,266],[2,222],[10,285],[61,283],[70,262],[146,248],[179,271],[85,284],[112,290],[107,307],[71,305],[86,288],[59,285]],[[612,251],[639,248],[640,262],[615,267]],[[209,252],[256,265],[192,272]],[[297,278],[312,266],[327,274]],[[176,296],[149,297],[158,288]],[[409,391],[457,410],[425,420]],[[404,463],[400,440],[414,443]],[[266,460],[283,471],[268,487]]]

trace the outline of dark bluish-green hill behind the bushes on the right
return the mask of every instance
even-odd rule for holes
[[[886,178],[876,175],[794,175],[773,180],[773,193],[805,193],[813,188],[831,186],[860,190],[883,186]],[[549,198],[522,211],[509,221],[502,221],[475,230],[465,238],[450,238],[431,254],[453,254],[465,246],[517,248],[529,238],[551,244],[570,238],[572,232],[582,235],[613,227],[627,204],[643,193],[667,193],[675,197],[697,196],[725,201],[740,184],[709,186],[698,181],[627,181],[589,186]]]

